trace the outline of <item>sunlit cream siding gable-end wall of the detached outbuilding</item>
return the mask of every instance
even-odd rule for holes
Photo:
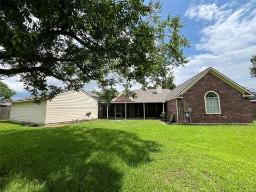
[[[98,118],[98,103],[82,91],[66,92],[47,101],[46,124],[87,119],[85,115],[91,111],[89,119]]]

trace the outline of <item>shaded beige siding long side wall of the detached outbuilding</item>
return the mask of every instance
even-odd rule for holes
[[[45,124],[46,101],[40,105],[33,101],[13,102],[10,121]]]

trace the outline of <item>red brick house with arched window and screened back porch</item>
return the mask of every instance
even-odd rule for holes
[[[121,92],[106,107],[107,118],[159,118],[162,111],[176,123],[252,123],[250,91],[212,67],[173,90],[133,90],[137,98]],[[102,116],[104,117],[104,115]]]

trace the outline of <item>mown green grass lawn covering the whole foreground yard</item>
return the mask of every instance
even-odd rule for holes
[[[256,191],[255,124],[2,122],[0,133],[1,191]]]

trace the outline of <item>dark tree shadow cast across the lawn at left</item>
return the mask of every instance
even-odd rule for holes
[[[159,147],[133,133],[86,125],[10,132],[1,135],[0,172],[7,174],[1,188],[18,178],[30,185],[38,179],[40,191],[119,191],[127,166],[150,162]]]

